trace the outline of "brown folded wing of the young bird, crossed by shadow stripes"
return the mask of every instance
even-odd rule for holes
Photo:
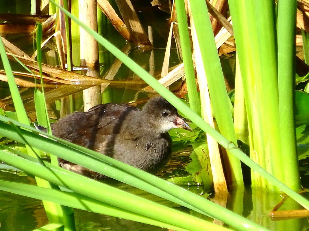
[[[119,132],[125,116],[136,107],[126,104],[97,105],[87,112],[75,112],[52,125],[53,134],[75,144],[95,149]]]

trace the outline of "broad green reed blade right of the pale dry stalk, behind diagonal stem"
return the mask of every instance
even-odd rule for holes
[[[205,17],[205,15],[208,15],[206,3],[204,0],[194,0],[190,1],[190,6],[216,122],[218,123],[220,133],[231,140],[231,142],[237,144],[230,110],[230,99],[226,92],[222,67],[214,41],[214,33],[209,17]],[[243,184],[240,161],[228,153],[228,162],[226,162],[226,168],[231,169],[228,175],[231,176],[232,183]]]

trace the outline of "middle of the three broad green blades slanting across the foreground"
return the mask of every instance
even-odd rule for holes
[[[95,200],[99,200],[142,216],[153,218],[163,223],[179,226],[182,229],[198,231],[203,229],[203,226],[217,229],[217,225],[213,225],[210,222],[193,217],[184,212],[168,208],[164,205],[160,205],[120,189],[113,188],[108,184],[94,181],[93,179],[78,175],[62,169],[61,167],[53,166],[47,162],[45,165],[48,168],[46,168],[40,165],[36,159],[31,157],[27,158],[28,159],[23,159],[4,151],[0,151],[0,159],[4,160],[6,163],[16,164],[16,166],[23,171],[34,175],[40,175],[40,177],[49,180],[54,184],[59,184],[60,186],[72,190],[73,192],[89,196]],[[30,161],[30,159],[32,161]],[[57,201],[59,204],[63,203],[60,202],[61,201]]]

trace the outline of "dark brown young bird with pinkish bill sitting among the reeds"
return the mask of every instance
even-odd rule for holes
[[[191,130],[163,97],[150,99],[142,110],[126,104],[97,105],[52,124],[53,135],[87,147],[150,173],[162,168],[171,155],[168,130]],[[59,159],[61,167],[100,178],[102,175]]]

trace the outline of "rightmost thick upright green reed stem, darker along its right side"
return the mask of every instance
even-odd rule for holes
[[[281,129],[281,158],[285,183],[299,191],[300,177],[294,126],[296,0],[278,1],[278,86]],[[289,33],[286,33],[289,31]]]

